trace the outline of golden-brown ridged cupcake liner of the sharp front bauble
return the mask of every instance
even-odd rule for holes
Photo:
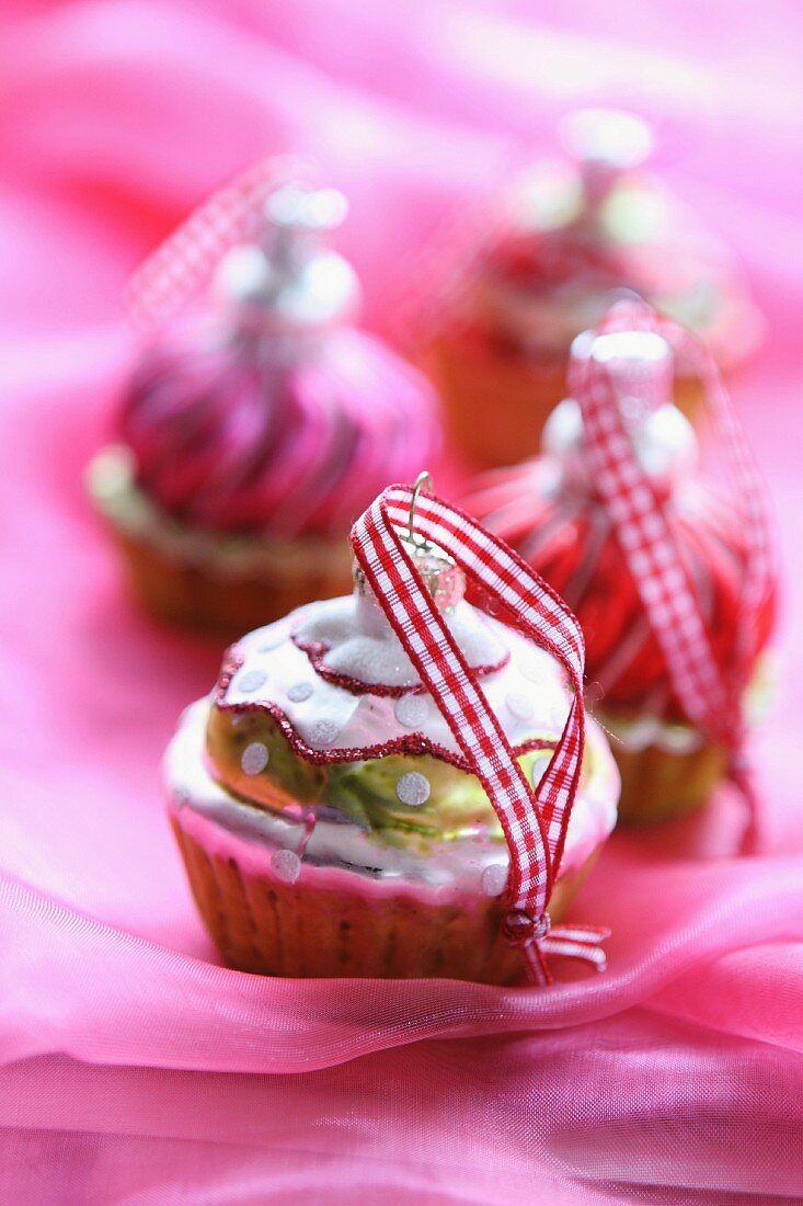
[[[500,897],[452,892],[438,900],[409,882],[377,885],[358,873],[307,865],[287,883],[268,859],[257,872],[253,857],[238,857],[225,837],[216,849],[205,848],[183,821],[188,813],[189,806],[172,810],[171,825],[195,903],[229,967],[287,977],[522,980],[521,954],[499,933]],[[564,915],[593,859],[558,880],[553,921]]]

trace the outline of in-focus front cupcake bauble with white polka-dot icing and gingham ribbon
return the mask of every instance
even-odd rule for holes
[[[238,642],[186,713],[166,786],[200,913],[228,965],[270,974],[599,966],[602,931],[555,924],[619,792],[593,722],[584,743],[576,621],[441,500],[418,498],[411,534],[411,498],[391,487],[354,526],[350,596]],[[518,628],[463,598],[467,574]]]

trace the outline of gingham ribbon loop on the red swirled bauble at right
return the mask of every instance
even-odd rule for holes
[[[727,672],[720,667],[711,649],[707,624],[663,504],[633,451],[608,367],[593,357],[573,362],[572,394],[582,411],[597,488],[661,645],[678,701],[702,732],[732,751],[732,777],[750,800],[743,756],[742,693],[750,674],[756,617],[773,576],[761,478],[719,370],[705,349],[641,302],[628,300],[612,306],[597,334],[632,330],[662,335],[698,374],[737,486],[734,505],[743,521],[746,551],[738,648]]]

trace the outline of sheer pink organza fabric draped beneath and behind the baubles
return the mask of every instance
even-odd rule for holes
[[[803,1195],[803,18],[780,0],[552,10],[95,0],[4,19],[2,1202]],[[225,971],[158,783],[219,649],[133,610],[82,491],[130,353],[119,288],[211,187],[298,148],[352,195],[342,247],[389,328],[509,131],[541,145],[578,98],[657,117],[667,175],[770,320],[737,387],[790,574],[762,851],[732,856],[725,797],[617,835],[575,911],[612,926],[610,968],[551,990]]]

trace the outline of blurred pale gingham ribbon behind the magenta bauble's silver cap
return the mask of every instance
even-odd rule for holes
[[[260,159],[212,193],[131,276],[125,289],[131,322],[150,330],[172,317],[230,247],[258,236],[268,195],[309,171],[295,156]]]

